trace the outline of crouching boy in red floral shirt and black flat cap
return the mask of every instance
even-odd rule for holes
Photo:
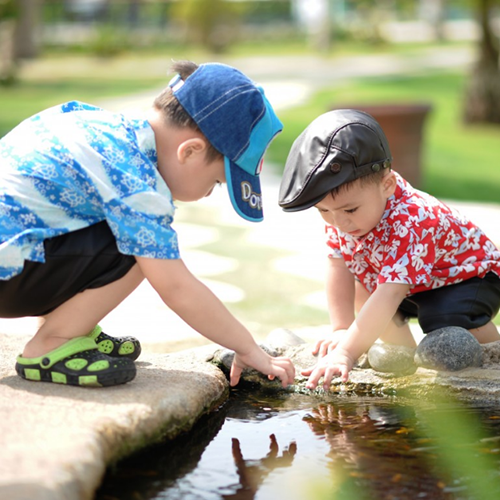
[[[409,317],[424,333],[455,326],[480,343],[500,340],[491,321],[500,252],[464,216],[393,172],[391,161],[380,125],[349,109],[314,120],[288,157],[280,206],[315,206],[327,223],[332,334],[315,347],[324,357],[303,372],[309,388],[321,377],[325,388],[337,375],[347,381],[377,339],[415,348]]]

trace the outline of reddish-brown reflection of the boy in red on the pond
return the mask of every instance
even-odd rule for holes
[[[434,470],[432,447],[420,446],[412,408],[321,404],[304,420],[328,442],[330,468],[352,478],[358,498],[453,498]]]

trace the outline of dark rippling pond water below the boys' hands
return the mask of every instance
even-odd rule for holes
[[[108,470],[95,500],[493,500],[500,403],[233,391]]]

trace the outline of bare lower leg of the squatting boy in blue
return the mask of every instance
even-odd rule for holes
[[[144,279],[135,264],[125,276],[99,288],[76,294],[52,312],[26,344],[23,357],[46,354],[75,337],[87,335],[109,312],[128,297]]]

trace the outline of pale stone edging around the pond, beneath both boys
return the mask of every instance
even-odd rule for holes
[[[271,334],[268,344],[270,351],[289,356],[296,365],[296,384],[288,391],[323,397],[322,389],[305,389],[306,378],[300,376],[301,368],[316,362],[311,344],[290,333]],[[109,464],[191,429],[229,393],[223,371],[213,364],[217,359],[206,362],[220,351],[214,344],[175,354],[144,354],[131,383],[83,389],[18,377],[15,358],[28,338],[0,334],[0,498],[90,500]],[[497,400],[500,342],[483,349],[483,368],[460,372],[419,368],[404,377],[356,368],[349,383],[334,381],[330,393],[411,391],[421,397],[445,387],[465,399]],[[227,362],[227,356],[224,359]],[[282,391],[278,381],[270,382],[254,370],[245,371],[243,382],[264,391]]]

